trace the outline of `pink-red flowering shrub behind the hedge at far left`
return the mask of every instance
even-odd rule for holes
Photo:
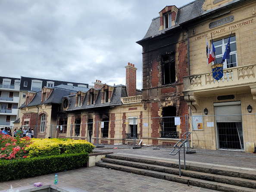
[[[31,145],[30,137],[12,137],[0,134],[0,159],[27,158],[29,155],[25,147]]]

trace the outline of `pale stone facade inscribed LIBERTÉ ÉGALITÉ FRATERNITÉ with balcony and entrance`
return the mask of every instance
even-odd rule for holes
[[[201,116],[203,125],[198,130],[191,122],[192,146],[253,152],[256,2],[204,0],[201,3],[200,14],[183,24],[189,31],[190,55],[190,75],[183,78],[183,94],[192,115]],[[222,62],[229,37],[230,59],[223,62],[223,77],[217,81],[212,65]],[[216,50],[215,62],[209,65],[206,38],[210,47],[213,40]]]

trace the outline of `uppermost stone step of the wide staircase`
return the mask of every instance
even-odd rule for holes
[[[127,157],[123,155],[112,155],[112,154],[106,155],[106,158],[139,162],[139,163],[145,163],[145,164],[153,164],[153,165],[159,165],[164,167],[179,168],[179,164],[176,162],[156,160],[154,158]],[[183,164],[181,164],[181,169],[184,169]],[[238,177],[238,178],[243,178],[248,180],[256,180],[256,173],[251,170],[236,170],[228,167],[214,167],[214,166],[204,165],[204,164],[200,164],[199,166],[198,164],[195,165],[191,163],[186,163],[186,170],[193,170],[193,171],[203,172],[203,173],[212,173],[216,175],[229,176],[229,177]]]

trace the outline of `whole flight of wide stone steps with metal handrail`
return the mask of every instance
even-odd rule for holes
[[[179,165],[174,161],[113,154],[106,155],[106,158],[101,160],[96,166],[217,191],[256,192],[256,173],[250,170],[186,164],[186,170],[181,165],[179,177]]]

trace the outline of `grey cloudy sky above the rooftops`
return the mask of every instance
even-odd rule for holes
[[[141,89],[141,40],[166,5],[192,0],[0,0],[0,76],[125,85],[128,62]]]

